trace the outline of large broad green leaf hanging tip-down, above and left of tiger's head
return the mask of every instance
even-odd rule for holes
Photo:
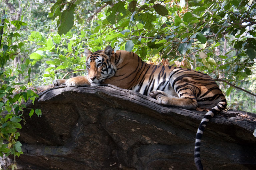
[[[69,3],[67,9],[65,9],[58,20],[58,34],[67,34],[67,32],[74,25],[74,10],[76,5]]]

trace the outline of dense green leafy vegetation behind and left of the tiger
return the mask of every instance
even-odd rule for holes
[[[205,72],[220,84],[228,107],[256,112],[255,0],[5,0],[0,6],[0,156],[22,153],[22,101],[37,97],[27,88],[86,69],[84,47],[111,45],[151,64]]]

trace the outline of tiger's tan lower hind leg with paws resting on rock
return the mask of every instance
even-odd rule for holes
[[[159,104],[176,106],[184,109],[196,109],[197,101],[193,95],[183,95],[181,98],[169,95],[163,91],[156,90],[149,93],[149,96],[155,98]]]

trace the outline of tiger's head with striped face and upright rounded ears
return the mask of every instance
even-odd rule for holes
[[[86,69],[88,72],[88,80],[91,85],[98,85],[115,75],[116,67],[111,62],[112,47],[107,46],[104,50],[98,50],[96,52],[90,52],[85,48],[84,53],[86,58]]]

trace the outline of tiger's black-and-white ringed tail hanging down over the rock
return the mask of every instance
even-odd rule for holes
[[[204,132],[204,129],[206,127],[206,124],[210,121],[210,119],[220,113],[222,110],[224,110],[227,106],[227,101],[224,97],[223,100],[221,100],[215,107],[213,107],[210,111],[208,111],[204,118],[201,120],[201,123],[197,129],[196,133],[196,141],[195,141],[195,150],[194,150],[194,161],[196,164],[197,170],[203,170],[203,165],[201,163],[201,157],[200,157],[200,147],[201,147],[201,139]]]

